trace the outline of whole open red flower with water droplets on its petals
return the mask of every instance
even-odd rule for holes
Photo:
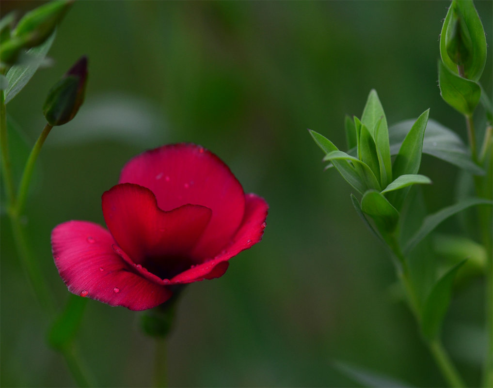
[[[133,158],[103,194],[109,231],[58,225],[53,257],[70,292],[145,310],[168,300],[170,286],[222,276],[230,258],[260,241],[267,209],[210,151],[166,145]]]

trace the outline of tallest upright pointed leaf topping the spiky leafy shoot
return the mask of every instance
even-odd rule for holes
[[[380,120],[382,122],[378,125]],[[382,185],[387,186],[392,181],[388,126],[384,108],[375,89],[372,89],[368,96],[365,108],[363,109],[363,115],[361,116],[361,123],[370,131],[377,147],[377,153],[381,154],[382,163],[385,166],[386,172],[386,180],[382,182]],[[381,170],[383,169],[381,168]]]

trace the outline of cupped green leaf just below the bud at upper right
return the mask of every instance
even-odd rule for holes
[[[445,102],[464,115],[472,115],[481,98],[481,88],[476,82],[459,77],[438,61],[438,84]]]

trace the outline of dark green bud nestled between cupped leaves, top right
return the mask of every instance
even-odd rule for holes
[[[445,33],[445,47],[450,59],[456,65],[464,65],[469,61],[472,51],[471,35],[460,17],[455,3],[451,6],[451,19]]]

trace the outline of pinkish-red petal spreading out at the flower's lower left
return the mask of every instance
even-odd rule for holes
[[[168,300],[172,292],[133,272],[113,249],[102,226],[69,221],[51,233],[55,265],[69,291],[111,306],[145,310]]]

